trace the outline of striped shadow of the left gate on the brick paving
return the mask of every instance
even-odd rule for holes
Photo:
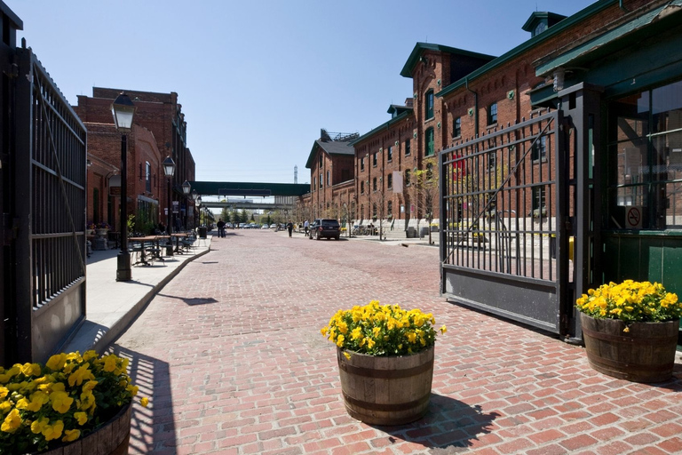
[[[130,359],[128,374],[139,387],[133,399],[129,453],[177,453],[169,364],[117,344],[108,350]],[[144,396],[149,399],[147,408],[139,404]]]

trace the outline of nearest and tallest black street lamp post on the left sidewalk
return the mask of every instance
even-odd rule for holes
[[[121,251],[116,257],[116,281],[131,281],[131,252],[128,251],[128,133],[132,131],[135,105],[121,92],[111,103],[116,130],[121,132]]]

